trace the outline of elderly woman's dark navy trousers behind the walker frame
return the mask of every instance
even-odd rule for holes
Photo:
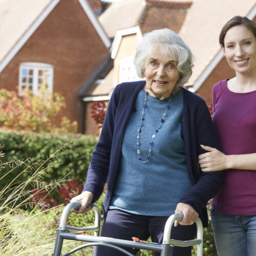
[[[130,214],[121,210],[109,210],[103,222],[101,236],[124,240],[132,240],[137,237],[147,240],[151,237],[152,242],[162,243],[165,222],[168,217],[154,217]],[[196,237],[196,224],[189,226],[178,225],[172,228],[171,239],[190,240]],[[134,255],[138,249],[123,247]],[[124,256],[125,254],[105,246],[98,247],[97,256]],[[160,252],[156,252],[156,256]],[[191,246],[189,247],[170,247],[169,256],[190,256]]]

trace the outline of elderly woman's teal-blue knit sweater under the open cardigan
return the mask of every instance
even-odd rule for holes
[[[146,163],[139,161],[136,146],[144,98],[145,91],[142,89],[135,103],[135,108],[140,111],[131,114],[125,129],[110,209],[147,216],[170,216],[174,214],[180,195],[191,187],[186,170],[184,140],[181,138],[183,92],[180,90],[172,97],[170,109],[154,139],[150,160]],[[147,96],[140,133],[142,159],[148,155],[152,135],[163,117],[167,100]]]

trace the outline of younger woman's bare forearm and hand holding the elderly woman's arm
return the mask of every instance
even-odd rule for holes
[[[214,147],[201,147],[208,151],[198,156],[202,172],[215,172],[225,169],[256,170],[256,153],[244,155],[225,155]]]

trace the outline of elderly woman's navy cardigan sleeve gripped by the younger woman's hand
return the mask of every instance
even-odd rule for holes
[[[195,99],[194,101],[197,101]],[[198,155],[205,153],[201,144],[208,144],[212,147],[219,148],[215,129],[207,108],[207,105],[203,100],[195,103],[193,108],[191,99],[187,103],[189,105],[189,137],[184,139],[189,140],[191,146],[191,161],[193,162],[193,177],[195,178],[195,184],[185,193],[179,203],[187,204],[200,213],[202,209],[206,207],[209,199],[215,197],[221,187],[224,173],[223,172],[201,172],[197,157]],[[195,132],[192,133],[191,131]],[[187,135],[188,136],[188,133]],[[191,175],[191,174],[189,174]]]

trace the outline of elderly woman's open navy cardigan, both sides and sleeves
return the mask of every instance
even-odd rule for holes
[[[135,101],[144,84],[145,81],[136,81],[116,86],[108,105],[99,141],[91,158],[83,191],[91,191],[95,202],[102,194],[108,179],[103,203],[104,216],[108,211],[114,189],[125,127],[130,114],[136,111]],[[179,202],[192,206],[198,212],[203,225],[207,226],[206,204],[218,193],[223,172],[201,172],[197,156],[205,153],[200,144],[215,148],[219,148],[219,145],[205,101],[198,95],[182,87],[181,89],[183,90],[181,136],[185,144],[187,172],[193,186],[186,194],[181,195]]]

